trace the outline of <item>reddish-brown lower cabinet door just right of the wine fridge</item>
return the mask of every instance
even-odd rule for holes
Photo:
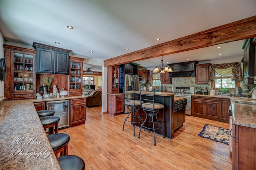
[[[84,121],[86,121],[86,103],[78,103],[71,105],[70,127],[84,124]]]

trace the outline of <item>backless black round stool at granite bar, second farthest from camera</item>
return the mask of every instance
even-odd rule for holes
[[[44,117],[40,117],[40,121],[44,127],[44,130],[46,130],[46,128],[49,128],[49,131],[46,133],[49,134],[53,134],[54,131],[54,126],[55,126],[55,133],[58,133],[59,130],[59,121],[60,118],[58,116],[44,116]]]

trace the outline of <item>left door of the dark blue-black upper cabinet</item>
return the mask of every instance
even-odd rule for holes
[[[37,48],[36,73],[54,73],[54,50]]]

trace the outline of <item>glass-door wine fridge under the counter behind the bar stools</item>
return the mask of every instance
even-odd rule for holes
[[[59,128],[69,127],[69,100],[47,101],[46,108],[55,111],[54,116],[60,118]]]

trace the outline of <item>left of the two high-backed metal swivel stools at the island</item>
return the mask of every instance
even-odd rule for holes
[[[124,124],[126,121],[132,123],[133,136],[135,136],[135,123],[143,122],[143,119],[140,117],[140,114],[138,112],[138,110],[140,109],[140,101],[135,100],[134,98],[135,97],[134,88],[130,90],[130,89],[124,89],[123,87],[123,93],[124,93],[124,105],[129,109],[129,114],[124,119]],[[136,112],[138,113],[138,116],[136,116]],[[131,116],[130,116],[130,113],[132,113]],[[128,118],[131,118],[131,121],[127,120]],[[124,131],[124,125],[123,125],[123,131]]]

